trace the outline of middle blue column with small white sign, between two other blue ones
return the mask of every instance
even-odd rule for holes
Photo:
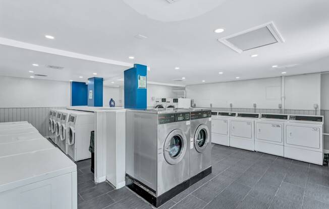
[[[88,78],[88,106],[103,107],[103,78]]]

